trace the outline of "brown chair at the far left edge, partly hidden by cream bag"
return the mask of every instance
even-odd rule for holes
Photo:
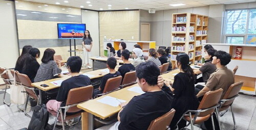
[[[7,103],[7,102],[5,101],[5,96],[6,96],[7,87],[10,87],[10,85],[12,84],[12,83],[11,83],[11,80],[10,80],[10,78],[9,78],[9,75],[8,75],[7,72],[8,72],[8,70],[7,70],[6,68],[0,67],[0,75],[1,75],[1,78],[3,79],[3,81],[4,81],[5,84],[6,84],[3,102],[4,102],[4,104],[6,104],[8,107],[10,107],[11,103]]]

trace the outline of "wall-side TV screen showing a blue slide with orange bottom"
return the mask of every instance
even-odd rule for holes
[[[86,24],[57,23],[58,38],[81,39],[86,30]]]

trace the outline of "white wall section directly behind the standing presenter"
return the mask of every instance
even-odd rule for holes
[[[91,56],[99,56],[99,13],[96,11],[81,10],[82,23],[86,23],[86,29],[90,31],[93,39],[93,48]],[[77,43],[82,44],[82,43]]]

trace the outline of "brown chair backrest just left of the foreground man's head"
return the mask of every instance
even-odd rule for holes
[[[136,71],[131,71],[125,73],[122,81],[121,88],[125,88],[127,86],[131,86],[133,84],[136,84],[137,76],[136,76]]]

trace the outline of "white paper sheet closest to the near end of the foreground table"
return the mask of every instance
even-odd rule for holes
[[[117,98],[112,97],[112,96],[105,96],[105,97],[103,97],[103,98],[101,98],[101,99],[99,99],[97,101],[99,101],[101,103],[104,103],[106,105],[117,107],[117,106],[119,106],[119,104],[121,102],[125,102],[126,100],[117,99]]]

